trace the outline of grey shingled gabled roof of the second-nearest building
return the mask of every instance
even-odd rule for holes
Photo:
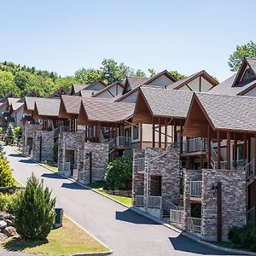
[[[189,112],[193,92],[142,86],[139,89],[139,96],[146,102],[153,116],[185,119]]]

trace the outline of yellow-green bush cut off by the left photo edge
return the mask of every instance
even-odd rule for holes
[[[12,171],[8,160],[3,154],[0,154],[0,187],[11,187],[15,184]]]

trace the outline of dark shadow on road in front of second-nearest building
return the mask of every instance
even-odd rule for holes
[[[124,212],[115,212],[115,218],[125,222],[130,222],[134,224],[155,224],[153,220],[146,218],[137,212],[133,212],[130,209],[125,210]]]

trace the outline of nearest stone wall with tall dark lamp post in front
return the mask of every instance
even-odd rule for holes
[[[202,170],[201,234],[216,240],[217,197],[212,195],[212,184],[222,186],[222,234],[226,240],[230,228],[246,224],[246,173],[230,170]]]

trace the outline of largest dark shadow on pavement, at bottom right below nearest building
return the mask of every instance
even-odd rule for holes
[[[218,251],[217,249],[207,247],[181,234],[177,237],[169,237],[169,239],[172,243],[172,247],[181,252],[198,253],[202,255],[236,255],[234,253]]]

